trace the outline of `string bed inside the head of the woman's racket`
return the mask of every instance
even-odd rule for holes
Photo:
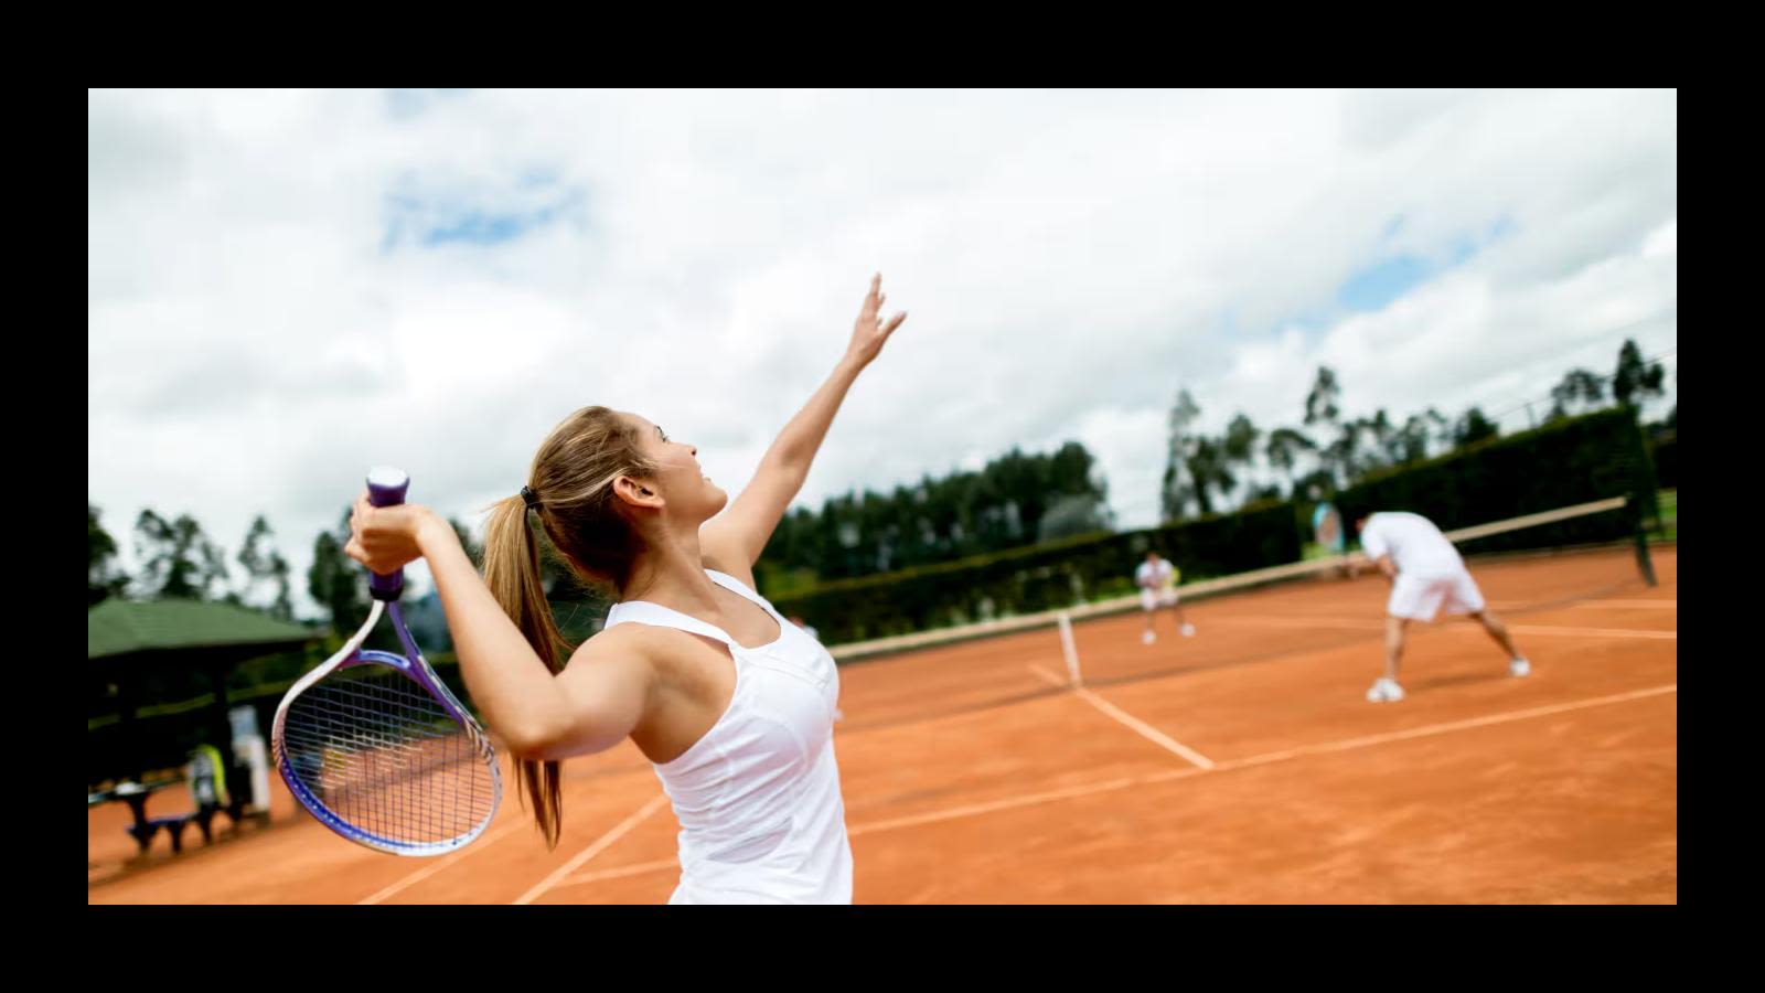
[[[341,820],[394,843],[475,834],[496,809],[489,742],[390,666],[357,666],[288,709],[288,767]]]

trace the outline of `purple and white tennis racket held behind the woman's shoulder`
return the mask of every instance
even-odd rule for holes
[[[374,468],[369,500],[402,504],[409,482],[397,468]],[[275,709],[275,767],[300,806],[349,841],[392,855],[454,852],[496,816],[496,751],[417,650],[399,613],[404,571],[372,574],[369,592],[367,624]],[[402,656],[362,648],[381,611]]]

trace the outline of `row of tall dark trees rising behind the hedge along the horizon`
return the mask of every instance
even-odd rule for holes
[[[1634,341],[1619,352],[1610,375],[1571,369],[1551,389],[1544,421],[1606,405],[1636,406],[1663,396],[1664,371],[1645,362]],[[1394,465],[1410,465],[1444,451],[1500,435],[1495,419],[1472,406],[1446,417],[1433,406],[1401,422],[1384,408],[1370,417],[1341,417],[1341,383],[1318,368],[1297,424],[1264,431],[1237,413],[1220,435],[1195,429],[1200,406],[1183,389],[1168,415],[1168,443],[1160,489],[1167,523],[1207,516],[1264,500],[1318,498]],[[1677,431],[1675,406],[1657,429]],[[475,562],[480,548],[452,519]],[[826,498],[819,509],[794,507],[768,541],[757,576],[771,595],[826,580],[987,555],[1059,537],[1114,530],[1108,484],[1096,458],[1078,442],[1052,452],[1013,447],[980,470],[955,470],[891,491],[852,489]],[[86,606],[109,597],[185,597],[231,603],[293,620],[293,576],[263,514],[252,518],[240,551],[228,557],[191,514],[164,518],[143,509],[134,521],[138,572],[118,565],[116,539],[101,509],[86,504]],[[307,594],[334,631],[353,631],[367,618],[367,580],[342,553],[349,537],[348,507],[335,528],[314,537]],[[545,588],[554,599],[591,603],[604,594],[581,588],[540,535]],[[235,571],[237,567],[237,571]],[[431,627],[436,618],[417,625]],[[439,627],[445,636],[445,625]]]

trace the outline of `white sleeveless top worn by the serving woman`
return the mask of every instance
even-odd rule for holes
[[[736,661],[729,709],[680,758],[653,763],[680,820],[669,903],[851,903],[852,850],[833,758],[833,656],[734,576],[713,583],[766,610],[778,640],[743,648],[718,627],[648,601],[614,604],[607,627],[650,624],[715,638]]]

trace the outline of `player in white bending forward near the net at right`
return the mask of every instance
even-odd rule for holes
[[[1386,604],[1386,675],[1366,691],[1370,701],[1403,700],[1403,687],[1398,686],[1403,636],[1412,620],[1431,622],[1442,606],[1447,613],[1468,613],[1483,624],[1490,638],[1507,652],[1511,675],[1532,671],[1532,663],[1514,648],[1507,627],[1484,606],[1465,560],[1433,521],[1421,514],[1377,512],[1356,518],[1354,528],[1361,535],[1361,551],[1391,580],[1391,601]]]

